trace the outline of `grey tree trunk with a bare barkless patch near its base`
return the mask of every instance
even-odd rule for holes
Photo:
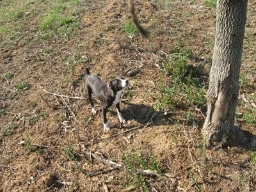
[[[247,0],[218,0],[207,117],[202,134],[208,147],[244,140],[235,126]]]

